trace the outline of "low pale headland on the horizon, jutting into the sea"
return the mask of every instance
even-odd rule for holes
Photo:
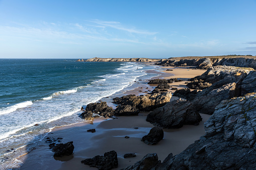
[[[147,59],[147,58],[91,58],[87,60],[76,60],[84,62],[158,62],[158,59]]]

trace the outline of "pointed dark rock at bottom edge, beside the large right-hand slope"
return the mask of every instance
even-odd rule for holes
[[[155,166],[160,164],[158,156],[156,153],[148,153],[140,161],[136,162],[134,165],[127,166],[121,170],[149,170],[154,169]]]

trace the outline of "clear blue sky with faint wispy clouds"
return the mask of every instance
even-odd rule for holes
[[[0,58],[256,55],[256,0],[0,0]]]

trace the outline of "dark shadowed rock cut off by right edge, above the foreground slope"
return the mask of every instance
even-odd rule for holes
[[[256,92],[256,71],[250,71],[242,81],[241,95],[254,92]]]

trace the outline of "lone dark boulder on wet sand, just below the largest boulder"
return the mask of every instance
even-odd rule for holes
[[[163,138],[163,130],[159,127],[153,127],[149,133],[142,137],[141,141],[146,144],[157,144]]]

